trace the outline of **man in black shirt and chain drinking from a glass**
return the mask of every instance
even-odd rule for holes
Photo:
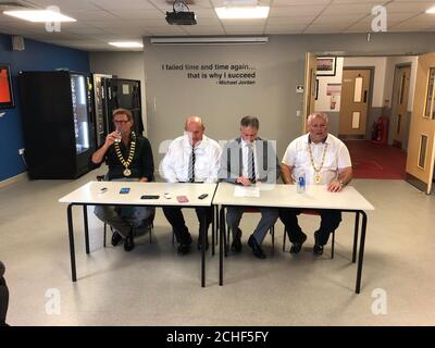
[[[105,142],[92,154],[92,162],[100,164],[104,159],[109,166],[108,181],[152,182],[154,163],[149,140],[132,130],[133,115],[129,110],[116,109],[112,113],[115,130],[105,137]],[[112,245],[124,239],[124,250],[130,251],[134,233],[148,231],[154,215],[152,207],[97,206],[95,214],[112,227]]]

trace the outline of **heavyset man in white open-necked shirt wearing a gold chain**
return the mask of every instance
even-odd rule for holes
[[[327,133],[327,115],[312,113],[308,116],[309,133],[295,139],[287,147],[281,170],[285,184],[297,182],[300,173],[304,173],[307,185],[326,185],[327,190],[339,192],[352,178],[352,164],[346,145]],[[300,209],[282,209],[279,219],[286,226],[290,239],[290,253],[298,253],[307,235],[298,224]],[[321,225],[314,233],[314,256],[323,253],[327,243],[341,221],[341,212],[337,210],[319,210]]]

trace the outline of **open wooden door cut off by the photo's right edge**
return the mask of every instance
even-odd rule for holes
[[[431,194],[435,162],[435,53],[419,57],[408,140],[407,181]]]

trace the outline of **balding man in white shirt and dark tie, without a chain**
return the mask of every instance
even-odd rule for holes
[[[185,123],[185,134],[174,139],[162,162],[162,175],[169,183],[215,183],[217,182],[221,148],[216,141],[204,135],[206,127],[198,116],[189,116]],[[186,226],[182,208],[163,207],[163,213],[170,222],[177,239],[178,252],[189,252],[191,236]],[[212,208],[197,208],[199,221],[198,249],[203,227],[209,231],[212,221]],[[202,226],[206,216],[206,226]],[[206,249],[209,240],[206,236]]]

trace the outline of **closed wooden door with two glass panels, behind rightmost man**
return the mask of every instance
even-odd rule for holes
[[[365,138],[370,70],[343,70],[338,135]]]

